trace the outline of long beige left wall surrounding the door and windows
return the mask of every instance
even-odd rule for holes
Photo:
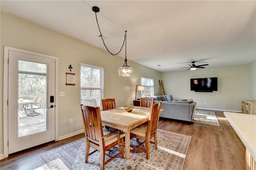
[[[99,42],[102,43],[102,42]],[[3,58],[4,45],[34,51],[59,58],[58,90],[64,91],[65,96],[59,97],[58,103],[58,133],[64,136],[83,129],[80,115],[80,64],[86,63],[104,68],[104,98],[116,98],[117,107],[132,104],[135,98],[136,84],[140,84],[140,77],[150,77],[155,82],[155,93],[159,92],[158,79],[161,72],[129,61],[133,67],[132,77],[119,77],[118,68],[124,64],[124,58],[113,57],[108,52],[59,34],[52,30],[38,26],[22,18],[1,12],[1,71],[0,71],[0,99],[3,99]],[[102,45],[103,46],[103,45]],[[130,49],[131,50],[131,49]],[[129,49],[128,49],[129,51]],[[67,86],[66,72],[72,65],[72,73],[76,73],[76,85]],[[0,103],[0,154],[3,154],[3,104]],[[69,119],[73,124],[69,125]]]

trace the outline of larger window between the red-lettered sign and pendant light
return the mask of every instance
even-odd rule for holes
[[[81,103],[86,106],[101,106],[103,99],[103,68],[81,64]]]

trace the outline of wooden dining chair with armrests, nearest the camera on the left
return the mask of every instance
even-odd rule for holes
[[[82,117],[84,122],[84,134],[86,137],[85,163],[88,163],[88,157],[96,151],[100,152],[100,170],[104,170],[104,166],[114,158],[120,156],[124,158],[124,134],[121,130],[110,131],[102,128],[100,116],[100,107],[90,107],[81,104]],[[115,156],[106,153],[107,150],[119,145],[120,152]],[[90,146],[96,150],[90,152]],[[105,162],[105,155],[110,157]]]

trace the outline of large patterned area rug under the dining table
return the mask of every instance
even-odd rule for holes
[[[150,159],[146,153],[135,149],[130,150],[130,159],[116,158],[105,165],[105,170],[181,170],[184,164],[191,136],[158,129],[158,149],[150,144]],[[142,141],[139,141],[142,142]],[[131,140],[131,144],[138,144]],[[38,157],[48,170],[98,170],[100,169],[100,154],[95,152],[84,162],[86,140],[76,140],[64,146],[49,150]],[[90,152],[94,148],[90,148]],[[108,154],[119,152],[118,147],[108,151]],[[106,156],[106,159],[108,157]]]

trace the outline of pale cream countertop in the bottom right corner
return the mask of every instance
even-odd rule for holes
[[[230,125],[256,160],[256,115],[224,112]]]

